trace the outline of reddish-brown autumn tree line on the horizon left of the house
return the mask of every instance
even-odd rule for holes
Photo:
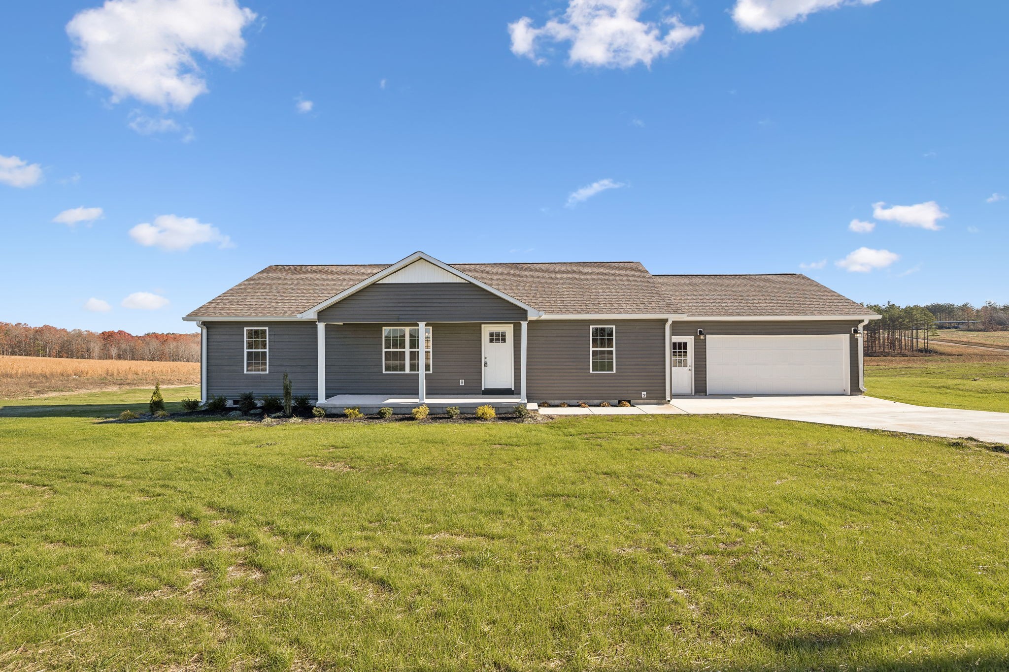
[[[0,322],[0,355],[78,360],[199,362],[199,333],[144,333],[62,329]]]

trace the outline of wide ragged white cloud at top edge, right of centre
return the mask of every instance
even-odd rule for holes
[[[543,63],[545,59],[537,55],[538,43],[570,42],[570,64],[651,65],[655,58],[669,55],[704,30],[702,25],[684,25],[678,16],[659,23],[640,21],[645,4],[644,0],[569,0],[564,15],[550,19],[542,28],[523,16],[508,26],[512,52]]]

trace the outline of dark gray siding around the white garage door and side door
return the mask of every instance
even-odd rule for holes
[[[675,337],[694,337],[694,393],[707,394],[707,343],[697,339],[697,329],[715,335],[789,335],[789,334],[848,334],[851,341],[851,390],[862,394],[859,388],[859,340],[852,333],[861,320],[796,320],[796,321],[742,321],[705,322],[703,320],[679,322],[673,320],[671,333]]]

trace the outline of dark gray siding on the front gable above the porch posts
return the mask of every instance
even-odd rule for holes
[[[324,322],[520,321],[526,310],[471,283],[375,283],[319,311]]]

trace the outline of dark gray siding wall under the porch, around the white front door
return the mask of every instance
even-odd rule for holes
[[[488,322],[489,323],[489,322]],[[522,328],[513,325],[515,390],[522,372]],[[382,327],[413,326],[397,321],[326,325],[326,395],[389,394],[416,396],[418,374],[382,371]],[[427,394],[480,394],[483,381],[481,323],[432,322],[431,373],[425,376]],[[465,381],[460,386],[459,381]]]

